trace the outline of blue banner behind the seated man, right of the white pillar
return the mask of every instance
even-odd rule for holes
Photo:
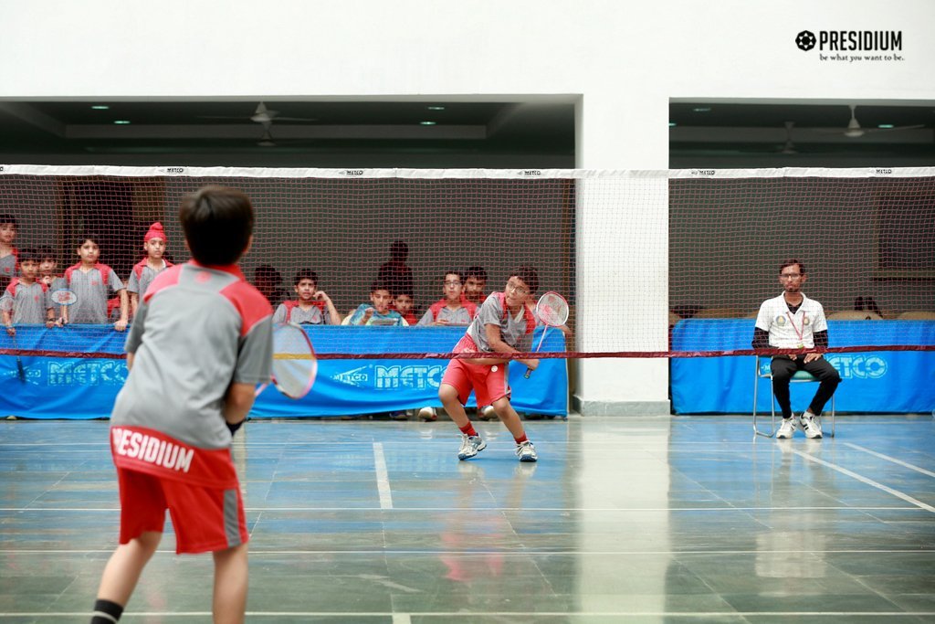
[[[749,349],[754,319],[686,319],[672,329],[673,351]],[[935,344],[932,321],[828,321],[831,346]],[[929,414],[935,409],[935,351],[826,354],[841,374],[839,412]],[[675,357],[671,366],[676,414],[751,414],[754,356]],[[770,357],[760,358],[770,370]],[[793,384],[792,409],[808,407],[817,384]],[[770,412],[770,380],[759,380],[756,411]],[[777,408],[778,409],[778,408]],[[830,403],[826,409],[830,409]]]

